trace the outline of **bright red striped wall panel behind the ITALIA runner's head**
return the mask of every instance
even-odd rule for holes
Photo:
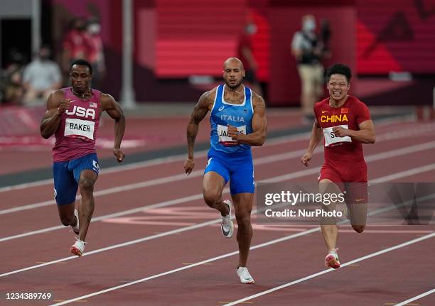
[[[244,25],[246,0],[156,0],[156,76],[222,75]]]

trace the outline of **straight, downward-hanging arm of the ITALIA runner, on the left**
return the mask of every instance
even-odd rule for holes
[[[210,90],[210,92],[204,92],[198,103],[193,108],[192,115],[190,116],[190,120],[187,127],[187,141],[188,141],[188,157],[184,163],[184,170],[186,174],[190,174],[195,166],[195,162],[193,161],[193,147],[195,146],[196,135],[198,134],[199,124],[207,115],[210,107],[213,105],[212,95],[214,96],[215,89]]]

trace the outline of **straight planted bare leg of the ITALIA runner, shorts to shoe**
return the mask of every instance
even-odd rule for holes
[[[252,225],[251,210],[253,193],[231,195],[237,220],[237,242],[239,244],[239,267],[246,267],[249,248],[251,247]]]

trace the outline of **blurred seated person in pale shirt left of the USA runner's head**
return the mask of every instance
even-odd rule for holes
[[[23,87],[26,89],[24,104],[38,102],[38,98],[48,98],[50,92],[60,88],[62,76],[57,63],[50,60],[50,48],[43,46],[38,56],[26,67],[23,75]]]

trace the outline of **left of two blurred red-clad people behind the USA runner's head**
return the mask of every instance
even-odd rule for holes
[[[70,31],[63,39],[62,70],[65,75],[70,72],[71,62],[80,58],[89,60],[92,46],[86,34],[86,21],[81,17],[73,19]]]

